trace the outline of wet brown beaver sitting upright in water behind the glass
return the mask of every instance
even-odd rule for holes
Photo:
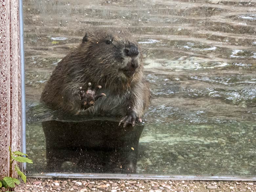
[[[58,63],[41,95],[54,110],[122,117],[123,127],[141,122],[149,99],[141,51],[123,32],[87,33]]]

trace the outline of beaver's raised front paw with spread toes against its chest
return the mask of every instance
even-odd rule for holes
[[[93,90],[92,90],[92,83],[88,83],[88,88],[87,91],[84,92],[82,87],[79,87],[80,90],[80,96],[81,96],[81,105],[87,109],[90,106],[95,105],[95,101],[102,96],[106,96],[106,94],[101,93],[101,94],[96,94],[97,90],[101,89],[100,85],[97,85]]]

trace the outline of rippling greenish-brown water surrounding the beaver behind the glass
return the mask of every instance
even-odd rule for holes
[[[255,176],[255,15],[255,1],[24,1],[28,171],[49,171],[36,122],[57,118],[39,104],[54,67],[88,29],[127,28],[152,92],[136,173]],[[99,172],[78,164],[58,171]]]

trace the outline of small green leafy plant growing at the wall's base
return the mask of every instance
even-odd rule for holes
[[[9,147],[10,152],[10,169],[9,169],[9,175],[10,177],[4,177],[3,180],[0,180],[0,188],[5,187],[9,191],[13,191],[13,188],[15,187],[15,184],[20,184],[20,181],[16,178],[12,178],[12,163],[13,161],[18,161],[22,163],[33,163],[31,159],[27,158],[28,155],[21,153],[20,151],[14,151],[11,152],[11,147]],[[26,157],[23,157],[26,156]],[[22,171],[19,169],[18,165],[15,165],[14,170],[17,172],[17,174],[21,177],[21,179],[26,183],[27,177],[22,173]]]

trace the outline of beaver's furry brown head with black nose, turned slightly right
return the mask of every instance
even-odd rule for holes
[[[87,65],[91,64],[98,70],[94,73],[99,79],[112,82],[121,80],[124,83],[142,74],[141,52],[137,42],[123,32],[87,33],[81,49],[85,51]]]

